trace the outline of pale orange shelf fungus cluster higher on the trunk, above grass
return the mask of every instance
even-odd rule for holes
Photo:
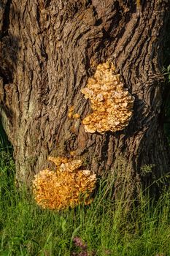
[[[134,97],[125,89],[120,75],[108,61],[98,64],[93,78],[81,90],[90,99],[93,113],[82,120],[86,132],[116,132],[124,129],[132,116]]]

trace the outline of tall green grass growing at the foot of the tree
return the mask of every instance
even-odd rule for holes
[[[104,184],[90,206],[55,212],[42,210],[31,195],[15,187],[15,165],[0,152],[0,255],[72,255],[80,237],[88,255],[170,255],[170,192],[157,203],[141,195],[131,211],[114,202]]]

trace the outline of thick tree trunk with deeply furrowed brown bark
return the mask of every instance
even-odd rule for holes
[[[1,116],[19,181],[28,184],[48,156],[72,154],[130,194],[140,178],[148,185],[169,172],[161,113],[169,11],[166,0],[2,0]],[[121,131],[85,132],[91,108],[80,90],[108,60],[135,97],[134,113]],[[72,106],[80,118],[69,118]]]

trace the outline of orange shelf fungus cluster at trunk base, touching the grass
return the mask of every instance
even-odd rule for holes
[[[96,174],[90,170],[80,170],[81,160],[65,157],[49,157],[49,160],[55,163],[55,170],[42,170],[33,181],[36,203],[53,210],[91,203]]]

